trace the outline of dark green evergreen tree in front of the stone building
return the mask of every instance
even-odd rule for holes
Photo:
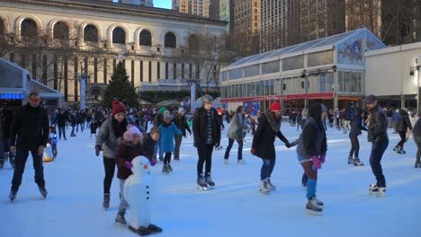
[[[111,108],[114,100],[122,101],[126,107],[135,107],[138,104],[138,95],[128,79],[126,68],[120,62],[105,89],[103,96],[104,108]]]

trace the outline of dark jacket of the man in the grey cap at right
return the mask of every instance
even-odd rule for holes
[[[368,128],[367,139],[369,142],[381,143],[389,139],[388,136],[388,121],[386,116],[381,110],[381,107],[377,105],[371,110],[372,120]]]

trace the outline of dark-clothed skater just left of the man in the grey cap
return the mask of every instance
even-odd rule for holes
[[[354,118],[351,120],[351,131],[349,132],[351,151],[349,151],[348,156],[348,163],[354,164],[355,166],[363,165],[363,162],[361,162],[359,158],[360,142],[358,141],[361,130],[367,131],[367,128],[363,127],[363,110],[356,108]],[[355,159],[353,159],[353,157],[355,157]]]

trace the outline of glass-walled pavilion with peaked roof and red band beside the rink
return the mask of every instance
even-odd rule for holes
[[[379,48],[386,46],[363,28],[244,57],[221,69],[221,102],[228,110],[251,101],[262,111],[272,101],[282,101],[285,110],[313,101],[344,108],[363,99],[364,55]]]

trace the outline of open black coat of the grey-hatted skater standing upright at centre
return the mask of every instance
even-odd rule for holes
[[[220,121],[218,116],[218,111],[215,108],[210,109],[212,113],[213,121],[213,145],[219,145],[220,143]],[[208,119],[206,118],[206,110],[204,107],[197,109],[193,116],[193,135],[194,135],[194,144],[197,145],[204,145],[206,144],[207,138],[207,131],[208,128]]]

